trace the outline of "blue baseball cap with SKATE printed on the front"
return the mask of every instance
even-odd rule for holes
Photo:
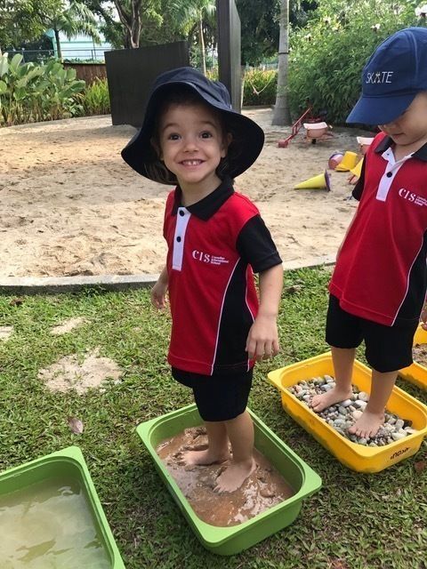
[[[390,123],[422,91],[427,91],[427,28],[400,29],[367,61],[362,95],[346,122]]]

